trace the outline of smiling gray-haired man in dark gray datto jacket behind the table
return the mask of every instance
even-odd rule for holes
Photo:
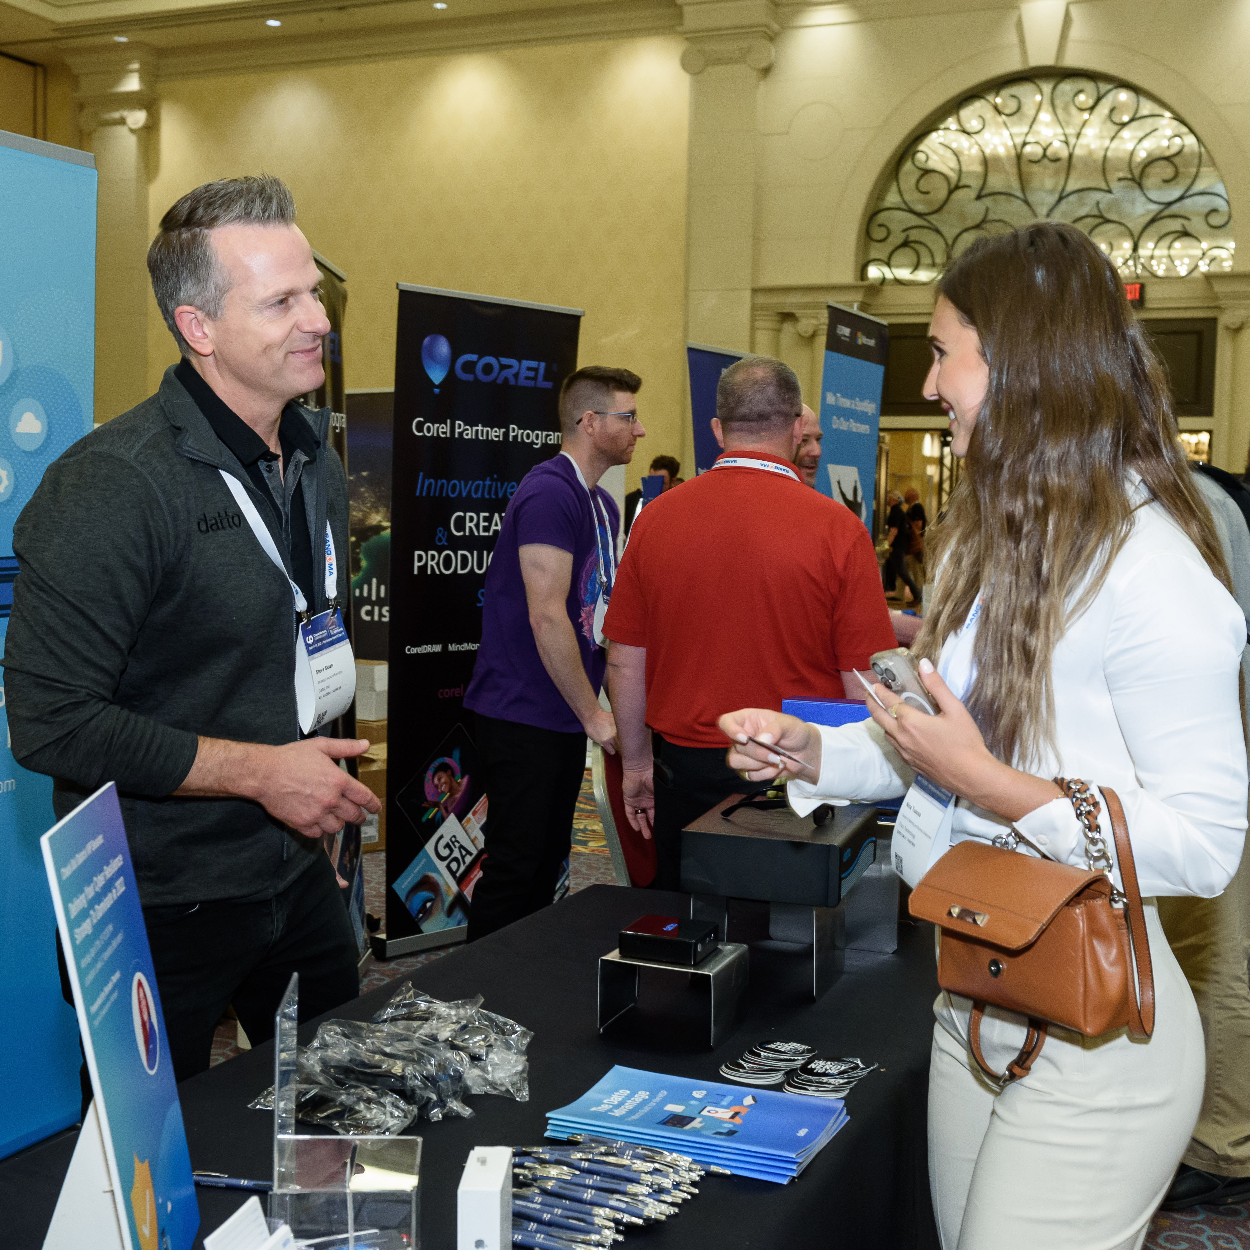
[[[4,668],[14,755],[55,778],[58,819],[116,782],[184,1080],[228,1004],[271,1036],[292,971],[304,1016],[355,996],[320,838],[379,805],[336,762],[369,744],[304,739],[296,712],[292,582],[312,612],[349,585],[328,550],[348,551],[329,411],[292,400],[321,384],[330,325],[290,192],[265,176],[190,191],[148,266],[182,360],[22,510]]]

